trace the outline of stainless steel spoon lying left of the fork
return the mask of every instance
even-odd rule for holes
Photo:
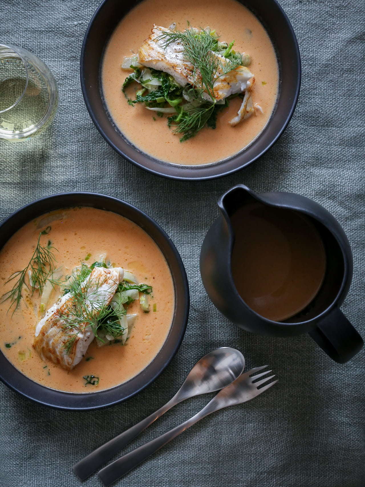
[[[85,480],[173,406],[189,397],[219,391],[242,374],[244,368],[245,359],[235,348],[221,347],[203,356],[191,369],[179,391],[168,403],[129,430],[89,453],[73,466],[73,471],[81,480]]]

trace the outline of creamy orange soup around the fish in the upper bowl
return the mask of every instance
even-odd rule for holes
[[[178,29],[186,21],[194,27],[216,29],[222,41],[235,39],[235,50],[252,58],[250,71],[255,75],[252,89],[254,103],[263,113],[257,113],[231,127],[231,120],[240,107],[241,99],[231,100],[230,106],[218,116],[215,130],[205,128],[185,142],[166,126],[166,117],[153,120],[154,113],[143,104],[133,108],[121,91],[128,71],[121,69],[124,56],[136,53],[151,33],[153,23],[168,27],[176,22]],[[102,86],[109,112],[126,138],[147,154],[174,164],[199,165],[226,159],[247,147],[263,130],[274,110],[278,92],[278,67],[274,47],[256,17],[235,0],[145,0],[122,19],[110,38],[102,67]]]

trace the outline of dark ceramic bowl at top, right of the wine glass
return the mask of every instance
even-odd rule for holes
[[[101,61],[113,30],[138,0],[104,0],[101,3],[91,19],[82,45],[81,88],[96,128],[120,155],[142,169],[171,179],[213,179],[248,166],[280,137],[292,117],[299,95],[301,68],[298,43],[288,17],[276,0],[240,2],[261,21],[274,44],[280,79],[277,103],[269,123],[247,149],[222,162],[201,166],[181,166],[154,159],[137,150],[113,123],[101,90]]]

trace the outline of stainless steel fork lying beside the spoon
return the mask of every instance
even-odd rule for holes
[[[242,374],[232,384],[222,389],[215,397],[213,397],[205,408],[195,414],[195,416],[188,419],[173,430],[167,431],[167,433],[164,433],[158,438],[149,441],[145,445],[142,445],[133,451],[130,451],[126,455],[123,455],[122,457],[118,458],[118,460],[115,460],[110,465],[107,465],[107,467],[102,468],[98,473],[98,476],[103,484],[105,486],[109,486],[129,472],[129,470],[137,467],[137,465],[146,460],[146,458],[152,455],[152,453],[162,448],[164,445],[166,445],[166,443],[176,438],[176,436],[190,428],[190,426],[208,414],[219,411],[219,409],[226,408],[228,406],[234,406],[235,404],[249,401],[253,397],[256,397],[256,395],[269,389],[269,387],[273,386],[277,380],[267,384],[261,389],[257,389],[257,387],[275,377],[274,375],[265,377],[257,382],[254,382],[254,380],[262,375],[268,374],[271,371],[265,371],[251,377],[251,375],[255,374],[261,369],[264,369],[265,367],[267,367],[267,365],[264,365],[263,367],[256,367],[256,369],[252,369],[245,374]]]

